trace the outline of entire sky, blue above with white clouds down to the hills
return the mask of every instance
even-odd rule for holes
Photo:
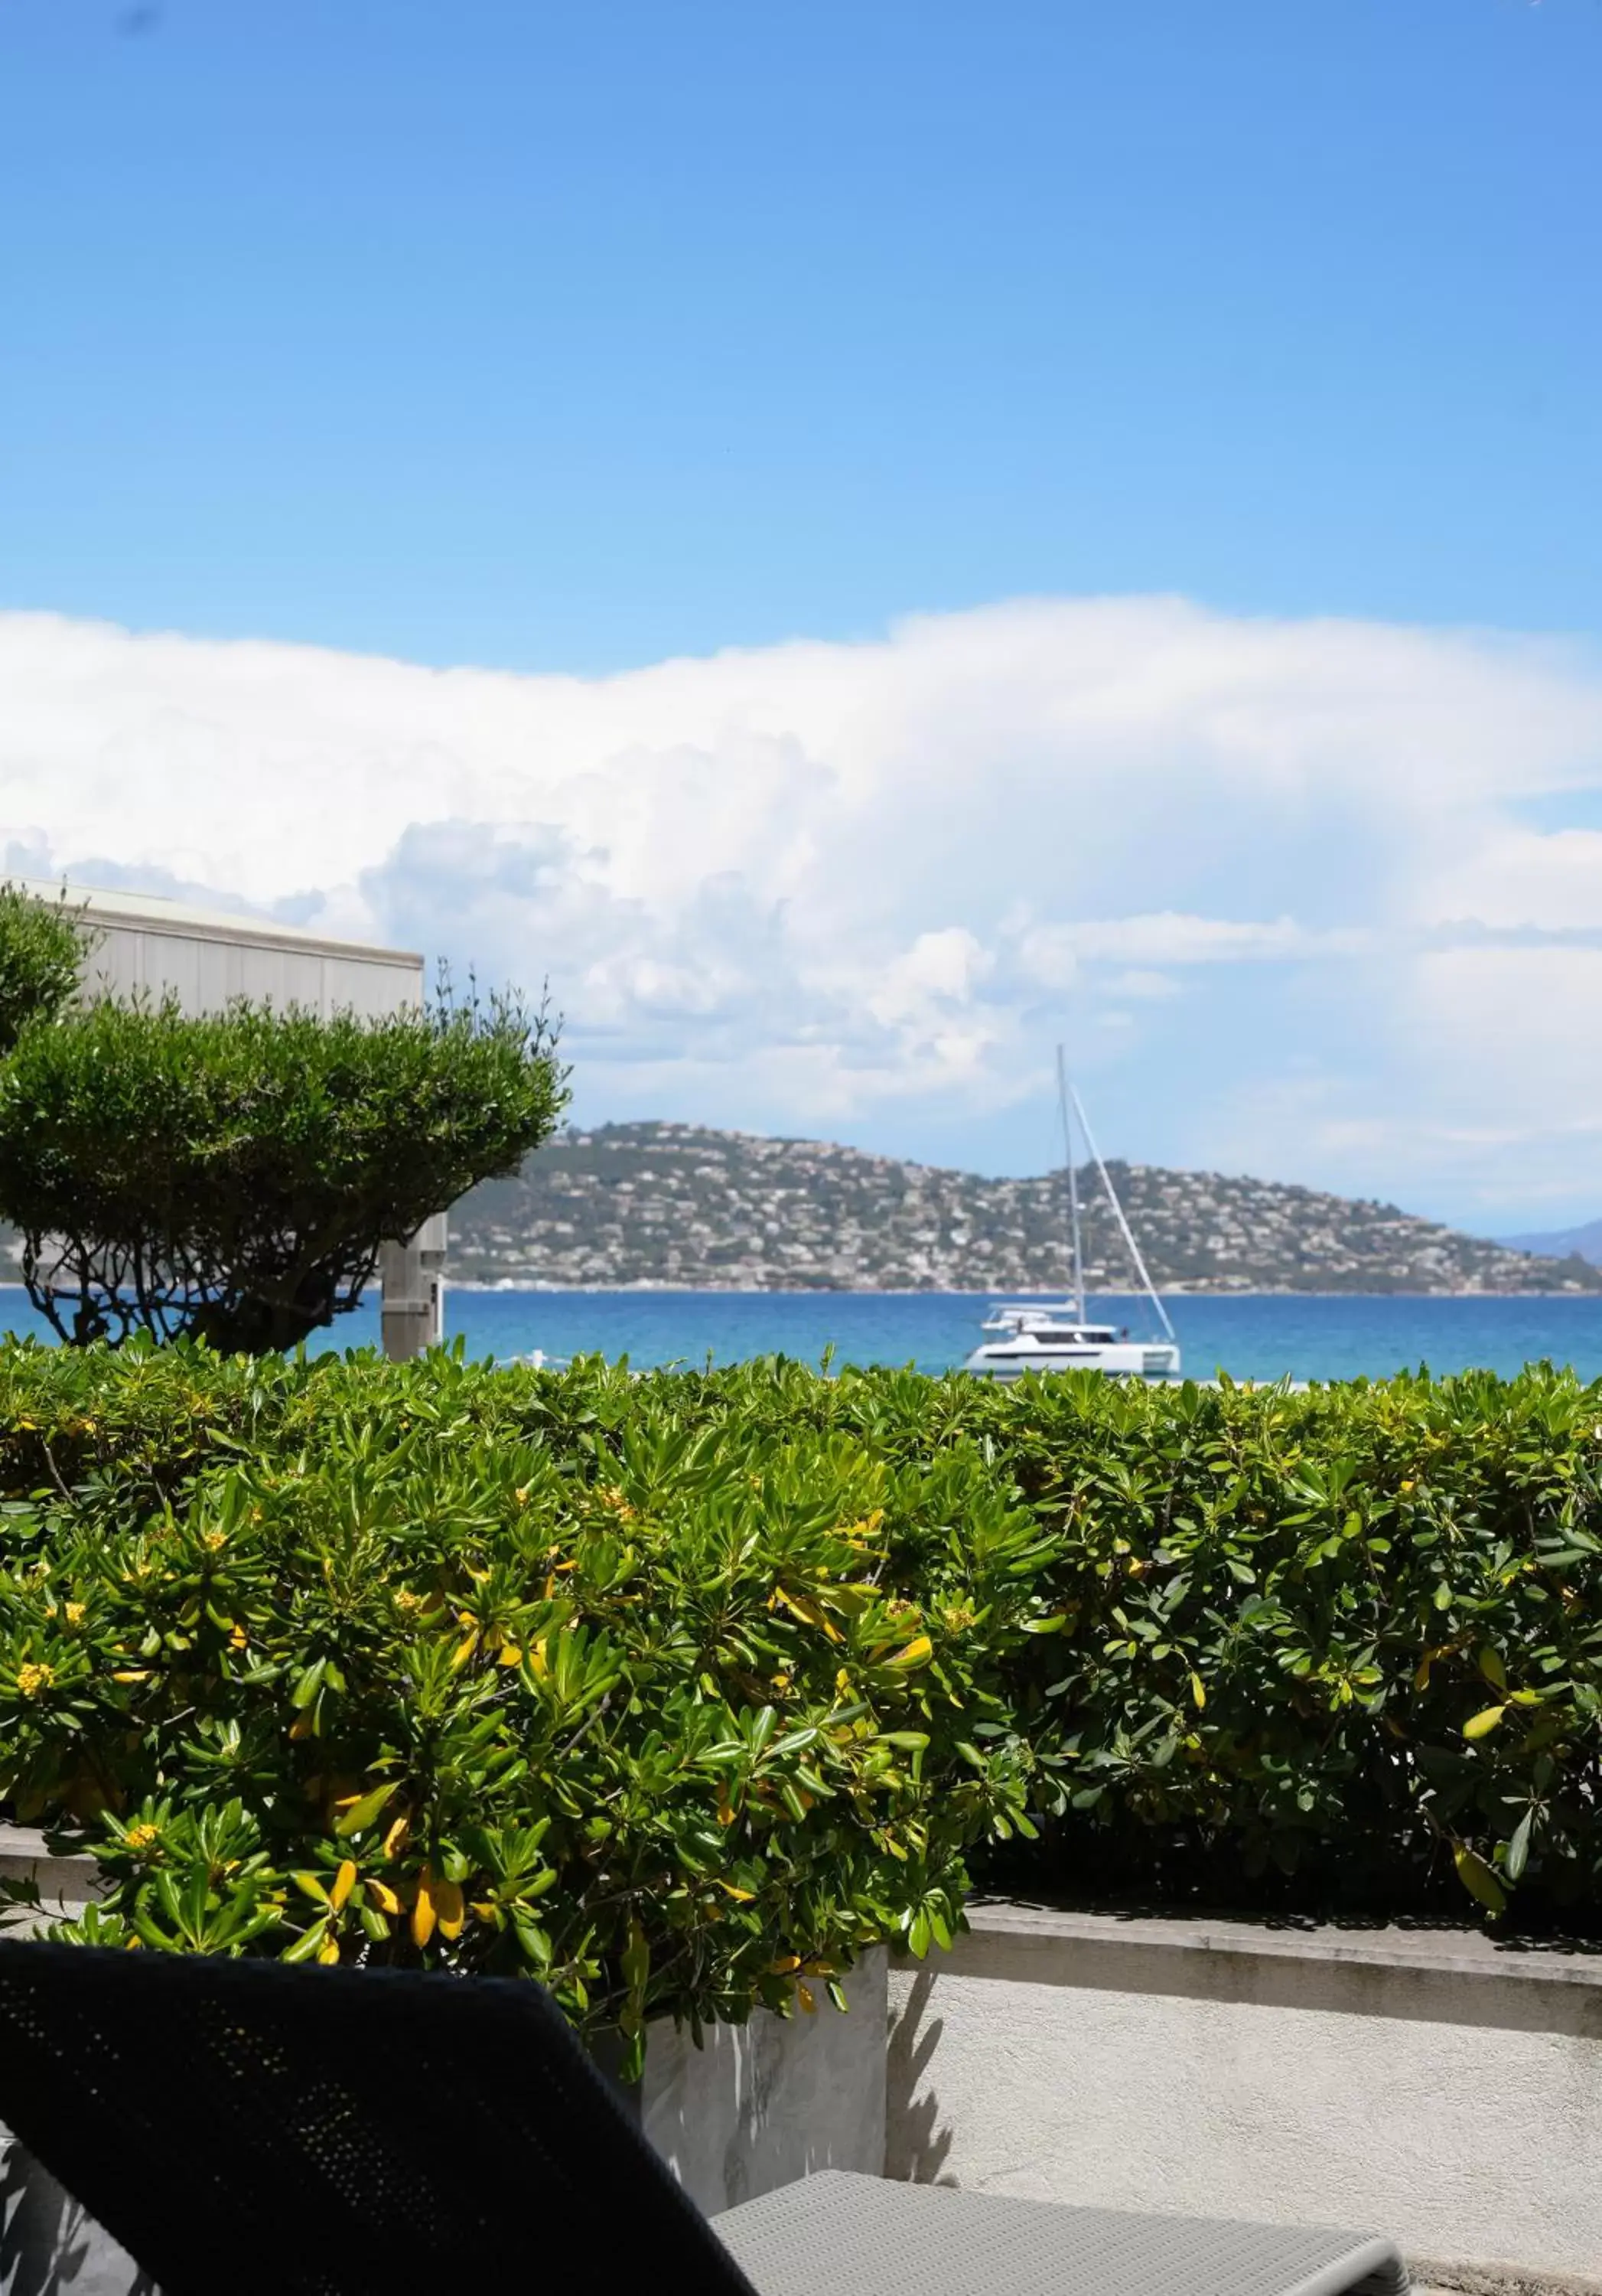
[[[592,1116],[1021,1169],[1067,1029],[1122,1153],[1595,1212],[1595,0],[0,0],[0,191],[16,856],[549,969]],[[223,703],[218,641],[333,668]],[[523,687],[491,735],[363,657]],[[700,875],[597,774],[693,785]],[[959,845],[874,843],[925,799]],[[858,932],[806,868],[863,854]]]

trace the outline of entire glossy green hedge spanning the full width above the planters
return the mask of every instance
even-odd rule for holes
[[[528,1968],[636,2032],[943,1942],[1019,1832],[1074,1892],[1579,1922],[1600,1465],[1554,1371],[18,1345],[0,1793],[94,1844],[101,1933]]]

